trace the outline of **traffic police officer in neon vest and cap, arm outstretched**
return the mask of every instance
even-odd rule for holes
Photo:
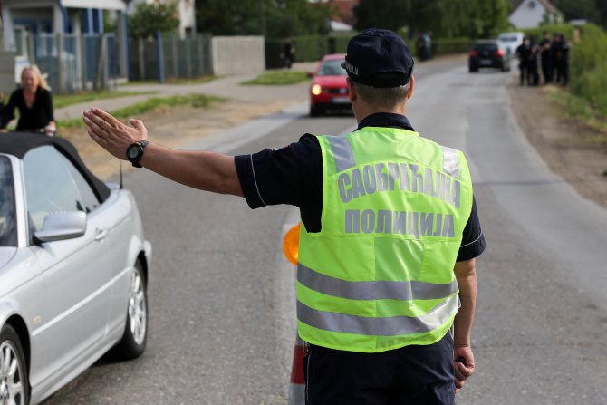
[[[485,248],[467,161],[405,117],[413,58],[397,34],[356,35],[343,67],[359,123],[343,137],[306,134],[228,157],[148,143],[141,121],[97,109],[84,121],[117,158],[253,208],[300,208],[306,403],[453,404],[475,371],[475,258]]]

